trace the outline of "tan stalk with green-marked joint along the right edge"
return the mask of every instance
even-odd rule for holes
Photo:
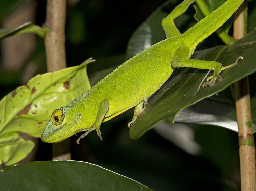
[[[247,33],[247,6],[244,2],[234,14],[234,38]],[[241,191],[256,191],[255,147],[252,131],[248,77],[234,83],[241,170]]]

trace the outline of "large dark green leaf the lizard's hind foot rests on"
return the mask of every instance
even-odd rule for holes
[[[193,59],[216,60],[228,65],[243,56],[239,64],[222,71],[223,81],[202,88],[206,71],[193,68],[175,69],[169,80],[148,100],[148,107],[131,126],[130,137],[139,138],[160,121],[174,122],[176,114],[196,102],[222,91],[233,82],[256,71],[256,30],[229,46],[218,46],[193,54]],[[209,74],[210,75],[210,74]],[[209,112],[211,108],[209,108]],[[223,121],[225,123],[225,121]],[[221,124],[219,124],[221,125]],[[221,125],[222,126],[222,125]]]

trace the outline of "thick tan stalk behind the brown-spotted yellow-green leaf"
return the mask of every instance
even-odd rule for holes
[[[44,26],[52,29],[44,40],[48,71],[66,68],[65,21],[66,0],[47,0]],[[70,159],[70,139],[53,144],[53,160]]]

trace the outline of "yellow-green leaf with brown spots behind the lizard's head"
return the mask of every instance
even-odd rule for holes
[[[40,137],[52,112],[90,88],[86,65],[37,75],[0,101],[0,164],[23,159],[34,147],[24,134]]]

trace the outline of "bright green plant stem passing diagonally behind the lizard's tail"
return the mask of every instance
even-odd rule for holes
[[[205,17],[211,13],[210,9],[208,8],[204,0],[196,0],[196,3]],[[219,28],[215,32],[226,45],[234,44],[236,42],[236,40],[229,36],[228,33],[226,33],[226,31],[222,28]]]

